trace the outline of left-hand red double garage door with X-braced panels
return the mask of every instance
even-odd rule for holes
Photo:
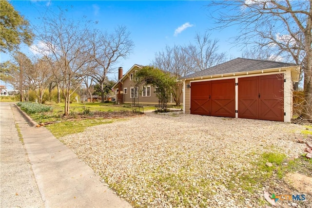
[[[235,79],[191,83],[191,114],[235,117]]]

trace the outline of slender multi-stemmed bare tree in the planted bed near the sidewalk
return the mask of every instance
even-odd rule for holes
[[[38,51],[49,61],[52,72],[65,98],[64,115],[69,113],[70,96],[80,86],[83,77],[90,71],[91,47],[87,37],[90,30],[86,24],[67,19],[63,11],[44,20],[38,36]],[[39,32],[39,31],[38,31]]]

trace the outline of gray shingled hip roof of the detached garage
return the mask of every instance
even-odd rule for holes
[[[247,58],[235,58],[225,63],[213,66],[211,68],[196,72],[192,75],[181,77],[181,79],[193,78],[199,76],[213,76],[238,72],[250,72],[265,69],[274,69],[280,67],[295,66],[295,64],[283,63],[270,60],[255,60]]]

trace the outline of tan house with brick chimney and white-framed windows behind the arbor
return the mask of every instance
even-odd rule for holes
[[[113,86],[116,95],[116,104],[133,104],[133,105],[158,105],[157,89],[152,85],[141,84],[136,86],[135,74],[136,71],[144,66],[135,64],[131,69],[122,75],[122,67],[118,68],[118,82]],[[182,96],[181,96],[182,97]],[[182,98],[181,98],[182,101]],[[182,102],[181,102],[182,103]],[[171,96],[170,103],[175,105],[176,102]]]

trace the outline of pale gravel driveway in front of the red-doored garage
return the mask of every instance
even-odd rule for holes
[[[280,181],[239,179],[265,174],[254,169],[263,152],[288,158],[302,153],[305,144],[295,136],[304,129],[273,121],[147,113],[60,140],[135,207],[265,207],[264,190],[292,190]]]

